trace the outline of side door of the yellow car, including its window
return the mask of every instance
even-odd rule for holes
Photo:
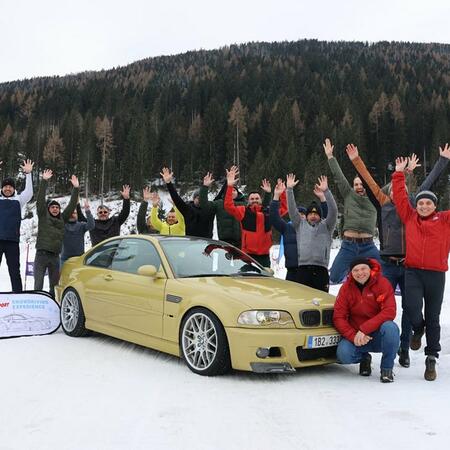
[[[107,320],[114,327],[161,337],[166,279],[139,275],[143,265],[163,271],[155,246],[145,238],[123,239],[105,276]]]

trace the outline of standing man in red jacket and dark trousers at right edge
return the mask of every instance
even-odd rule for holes
[[[431,191],[416,195],[414,209],[405,187],[404,170],[408,160],[397,158],[395,163],[392,174],[395,207],[406,231],[405,307],[414,331],[410,347],[418,350],[426,333],[424,377],[433,381],[441,350],[439,319],[448,270],[450,211],[436,211],[437,197]],[[424,304],[425,318],[422,314]]]

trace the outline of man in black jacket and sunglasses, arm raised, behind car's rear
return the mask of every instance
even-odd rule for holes
[[[89,232],[92,246],[113,236],[120,235],[120,227],[125,223],[130,214],[130,186],[123,186],[120,191],[123,198],[122,211],[119,215],[110,217],[111,210],[106,205],[97,208],[97,219],[95,227]]]

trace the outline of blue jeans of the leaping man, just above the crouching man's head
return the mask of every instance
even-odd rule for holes
[[[380,253],[373,242],[350,242],[342,240],[341,249],[330,269],[330,284],[341,283],[349,272],[351,262],[355,258],[374,258],[380,261]]]

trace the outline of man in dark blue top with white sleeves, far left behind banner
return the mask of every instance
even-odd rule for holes
[[[21,166],[25,173],[25,189],[20,194],[16,191],[16,183],[13,178],[5,178],[2,181],[0,193],[0,263],[5,254],[13,292],[22,292],[19,251],[20,223],[22,208],[33,197],[31,179],[33,164],[27,159]]]

